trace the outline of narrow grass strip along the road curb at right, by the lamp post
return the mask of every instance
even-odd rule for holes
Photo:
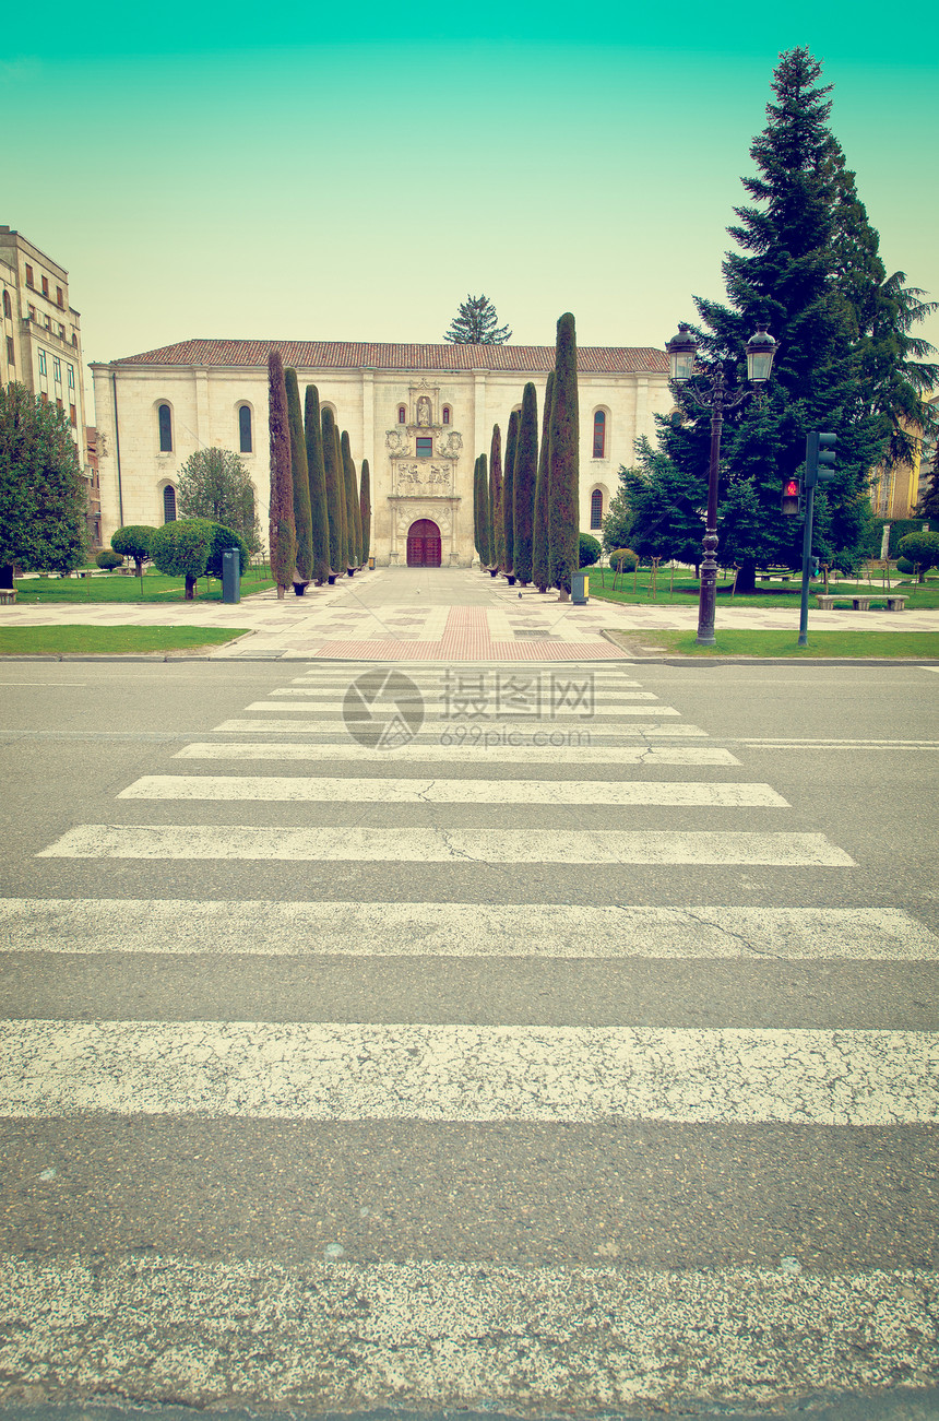
[[[716,631],[716,647],[699,647],[693,631],[617,632],[617,641],[648,655],[656,648],[679,657],[922,657],[939,659],[939,631],[813,631],[798,645],[791,631]]]

